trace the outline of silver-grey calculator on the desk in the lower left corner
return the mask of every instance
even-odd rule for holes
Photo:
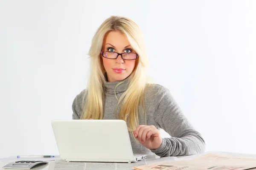
[[[42,164],[48,164],[47,161],[16,161],[6,164],[3,169],[31,169],[33,167],[38,167]]]

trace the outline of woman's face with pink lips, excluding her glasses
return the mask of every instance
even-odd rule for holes
[[[131,47],[125,34],[119,31],[111,31],[105,35],[102,51],[113,51],[117,53],[136,53]],[[102,55],[100,55],[102,57]],[[121,55],[117,59],[102,57],[104,68],[107,72],[108,82],[116,82],[128,77],[134,70],[136,59],[125,60]]]

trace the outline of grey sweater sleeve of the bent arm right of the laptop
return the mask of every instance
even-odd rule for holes
[[[154,119],[171,138],[163,138],[161,146],[151,150],[158,156],[182,156],[203,153],[205,142],[183,115],[167,88],[160,90]]]

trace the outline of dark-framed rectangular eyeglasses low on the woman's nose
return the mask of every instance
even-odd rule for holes
[[[102,56],[108,59],[117,59],[117,57],[121,55],[122,59],[125,60],[133,60],[133,59],[137,59],[137,57],[139,56],[136,53],[116,53],[113,51],[102,51]]]

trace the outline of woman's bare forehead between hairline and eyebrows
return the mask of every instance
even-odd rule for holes
[[[130,45],[130,42],[128,41],[127,37],[124,33],[121,33],[120,31],[110,31],[105,35],[105,41],[104,44],[111,44],[115,46],[116,48],[123,48],[127,45]]]

